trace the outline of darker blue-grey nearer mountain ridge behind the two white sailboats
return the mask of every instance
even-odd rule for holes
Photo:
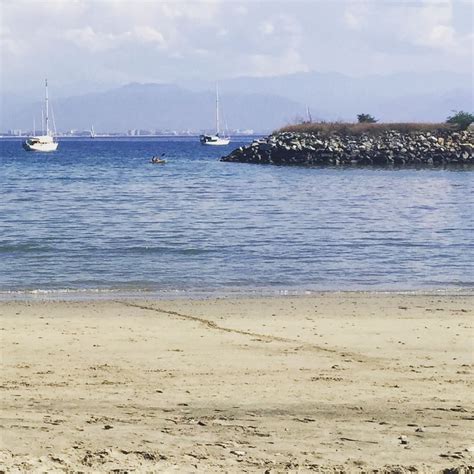
[[[31,128],[41,120],[41,103],[13,109],[8,103],[0,129]],[[107,92],[58,99],[53,102],[58,130],[128,129],[212,130],[215,93],[190,91],[175,85],[129,84]],[[290,123],[303,112],[300,104],[270,94],[231,93],[222,98],[222,125],[231,129],[270,131]]]

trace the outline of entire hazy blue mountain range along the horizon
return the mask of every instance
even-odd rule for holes
[[[50,83],[54,84],[54,81]],[[132,83],[106,91],[54,99],[60,131],[90,129],[212,130],[215,85]],[[473,110],[472,77],[447,72],[350,77],[338,73],[298,73],[240,77],[219,82],[223,122],[230,129],[269,132],[306,118],[354,121],[370,113],[380,121],[444,121],[452,110]],[[41,121],[41,101],[2,94],[0,130],[31,129]],[[39,128],[39,126],[37,126]]]

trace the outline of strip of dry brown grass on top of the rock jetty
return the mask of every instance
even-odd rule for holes
[[[456,127],[445,123],[344,123],[344,122],[319,122],[301,123],[287,125],[277,130],[276,133],[294,132],[311,133],[314,135],[330,135],[332,133],[342,133],[345,135],[381,135],[389,130],[400,133],[416,132],[447,132],[455,130]]]

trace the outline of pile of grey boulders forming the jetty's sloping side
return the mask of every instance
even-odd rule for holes
[[[221,161],[285,166],[474,168],[474,131],[278,132],[240,147]]]

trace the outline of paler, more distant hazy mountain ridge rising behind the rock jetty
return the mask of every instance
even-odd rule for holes
[[[223,94],[261,93],[287,97],[311,107],[325,120],[355,120],[357,114],[376,114],[385,121],[444,120],[452,109],[473,109],[472,77],[467,74],[398,73],[350,77],[339,73],[308,72],[277,77],[240,77],[221,81]],[[189,85],[191,86],[191,85]],[[210,89],[213,84],[198,87]]]

